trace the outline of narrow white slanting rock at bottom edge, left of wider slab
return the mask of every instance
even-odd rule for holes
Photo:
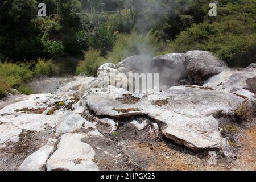
[[[34,154],[31,154],[20,165],[19,171],[44,171],[46,161],[54,151],[54,146],[46,144]]]

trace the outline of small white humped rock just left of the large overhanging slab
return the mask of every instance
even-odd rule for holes
[[[61,118],[56,127],[56,137],[60,137],[65,133],[72,133],[80,129],[96,128],[96,126],[81,117],[80,115],[69,115]]]

